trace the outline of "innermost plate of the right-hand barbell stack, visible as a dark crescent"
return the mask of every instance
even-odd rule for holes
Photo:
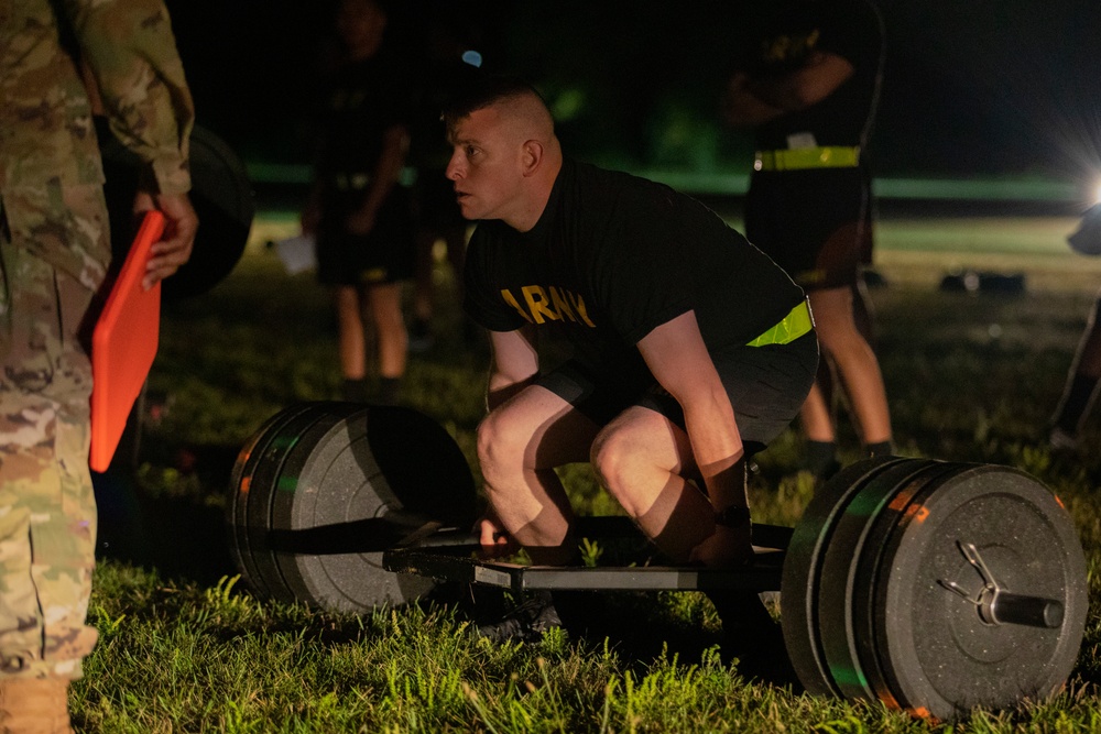
[[[792,533],[781,577],[780,621],[787,655],[810,693],[838,694],[821,654],[817,611],[819,567],[833,522],[866,481],[902,461],[906,459],[876,457],[849,464],[815,492]]]

